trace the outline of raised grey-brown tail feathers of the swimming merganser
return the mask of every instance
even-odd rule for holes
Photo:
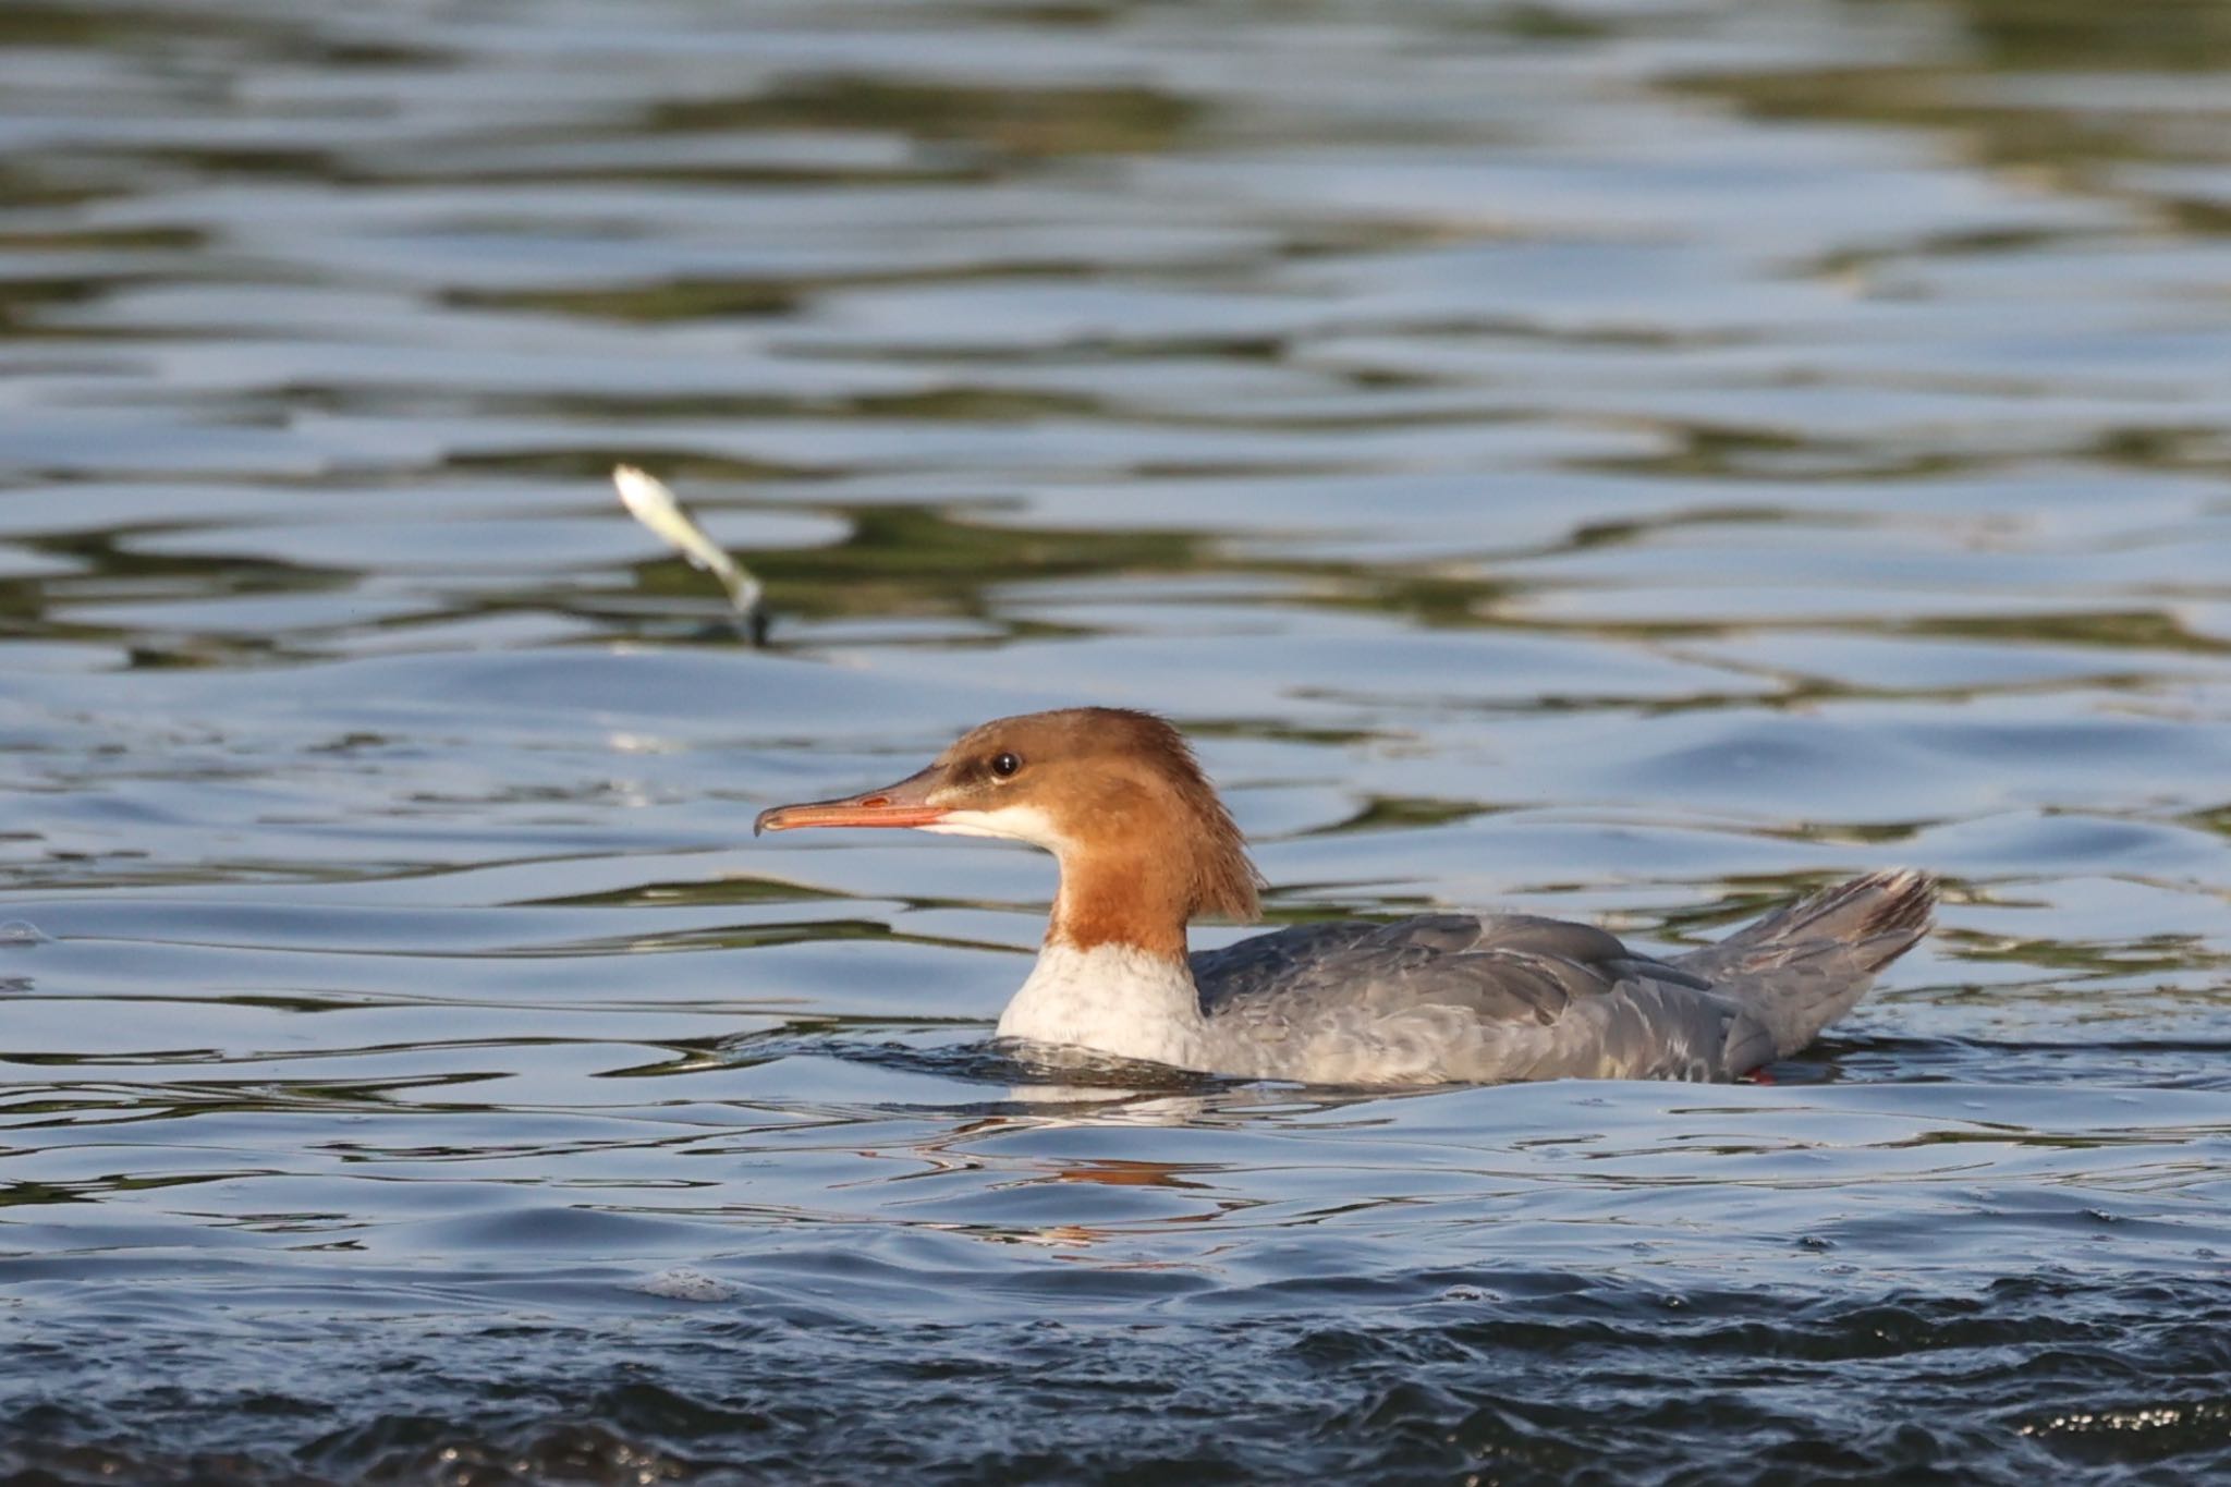
[[[1787,1059],[1849,1012],[1874,974],[1930,932],[1937,878],[1870,872],[1800,898],[1675,961],[1736,999],[1731,1072]]]

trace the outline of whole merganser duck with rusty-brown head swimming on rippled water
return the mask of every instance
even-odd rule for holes
[[[779,805],[752,832],[799,827],[1055,856],[1002,1039],[1298,1083],[1736,1079],[1847,1012],[1937,901],[1925,874],[1876,872],[1671,961],[1530,914],[1310,923],[1187,954],[1187,923],[1254,919],[1263,878],[1178,729],[1113,707],[986,722],[897,785]]]

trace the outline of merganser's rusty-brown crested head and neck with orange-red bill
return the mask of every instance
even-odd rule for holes
[[[1069,707],[964,733],[897,785],[779,805],[754,832],[917,827],[1008,836],[1062,865],[1046,939],[1185,954],[1198,914],[1254,919],[1261,876],[1185,736],[1153,713]]]

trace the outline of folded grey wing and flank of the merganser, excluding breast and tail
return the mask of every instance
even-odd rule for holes
[[[1591,925],[1419,914],[1207,950],[1218,1068],[1310,1083],[1725,1079],[1740,1003]]]

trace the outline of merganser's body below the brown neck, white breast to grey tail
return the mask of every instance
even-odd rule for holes
[[[1928,910],[1921,874],[1874,874],[1675,961],[1517,914],[1298,925],[1182,972],[1049,945],[999,1034],[1303,1083],[1736,1079],[1856,1003]]]

